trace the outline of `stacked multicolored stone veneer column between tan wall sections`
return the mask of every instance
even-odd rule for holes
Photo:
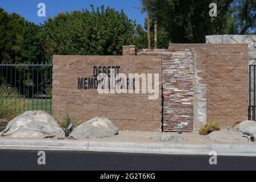
[[[163,130],[193,131],[194,54],[189,50],[163,57]]]

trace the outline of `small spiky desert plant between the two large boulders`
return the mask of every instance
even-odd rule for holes
[[[73,119],[70,117],[70,114],[69,114],[69,111],[65,111],[65,113],[62,115],[62,120],[59,121],[58,120],[58,123],[59,123],[59,126],[62,128],[62,130],[65,131],[65,133],[68,133],[70,134],[73,130],[73,128],[79,126],[79,122],[77,119]],[[69,125],[72,124],[73,125],[73,128],[69,131],[67,131],[67,127],[69,127]]]

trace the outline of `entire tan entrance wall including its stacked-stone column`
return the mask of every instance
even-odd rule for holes
[[[207,121],[221,127],[247,119],[248,44],[171,44],[169,49],[139,50],[138,56],[54,56],[53,114],[66,108],[73,118],[111,119],[119,129],[198,130]],[[158,100],[149,94],[98,94],[79,90],[79,77],[93,77],[94,65],[118,65],[120,73],[159,73]],[[163,104],[163,106],[162,106]]]

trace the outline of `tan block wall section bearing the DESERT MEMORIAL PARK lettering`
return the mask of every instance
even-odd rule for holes
[[[162,60],[152,56],[54,56],[53,116],[66,109],[81,122],[107,117],[121,130],[157,131],[162,121]],[[79,90],[78,78],[93,78],[93,66],[120,66],[119,73],[159,73],[159,98],[149,94],[99,94]]]

